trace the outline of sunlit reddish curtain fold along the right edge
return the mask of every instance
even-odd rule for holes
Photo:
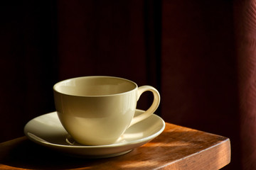
[[[236,1],[240,140],[244,169],[256,169],[256,1]]]

